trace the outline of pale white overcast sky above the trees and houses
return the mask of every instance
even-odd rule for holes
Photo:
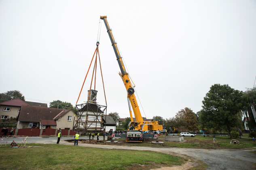
[[[107,16],[142,116],[197,113],[219,83],[246,91],[256,77],[256,0],[0,0],[0,93],[75,106]],[[127,92],[102,21],[107,111],[129,117]],[[97,102],[105,104],[100,71]],[[78,104],[87,101],[91,72]],[[142,109],[143,108],[143,109]]]

